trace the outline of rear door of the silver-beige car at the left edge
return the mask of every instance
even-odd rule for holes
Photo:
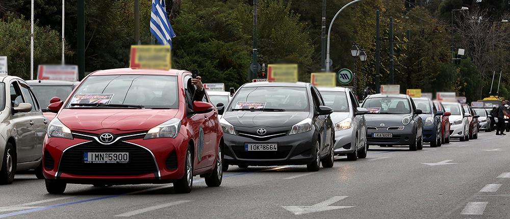
[[[21,94],[23,94],[23,99],[25,102],[32,105],[32,110],[28,114],[30,117],[29,123],[33,124],[32,128],[35,132],[35,148],[32,151],[31,160],[38,160],[42,157],[42,145],[44,142],[44,135],[46,135],[47,131],[48,120],[42,115],[39,102],[30,87],[25,84],[24,81],[18,81],[18,84],[21,89]]]

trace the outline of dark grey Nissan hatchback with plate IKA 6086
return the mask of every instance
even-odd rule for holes
[[[412,151],[423,149],[423,122],[420,109],[408,95],[374,94],[363,101],[368,110],[367,145],[409,145]]]

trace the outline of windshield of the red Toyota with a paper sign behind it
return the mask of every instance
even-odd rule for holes
[[[66,107],[104,103],[179,108],[176,81],[177,77],[164,75],[90,76],[80,84]]]

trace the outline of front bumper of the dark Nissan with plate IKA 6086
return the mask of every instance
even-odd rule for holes
[[[392,138],[373,138],[372,133],[392,133]],[[412,131],[367,131],[368,145],[410,145],[414,144],[416,134]]]

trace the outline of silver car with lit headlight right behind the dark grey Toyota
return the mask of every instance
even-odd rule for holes
[[[335,155],[356,160],[367,157],[367,110],[359,107],[350,89],[318,88],[326,106],[333,108],[330,115],[335,124]]]

